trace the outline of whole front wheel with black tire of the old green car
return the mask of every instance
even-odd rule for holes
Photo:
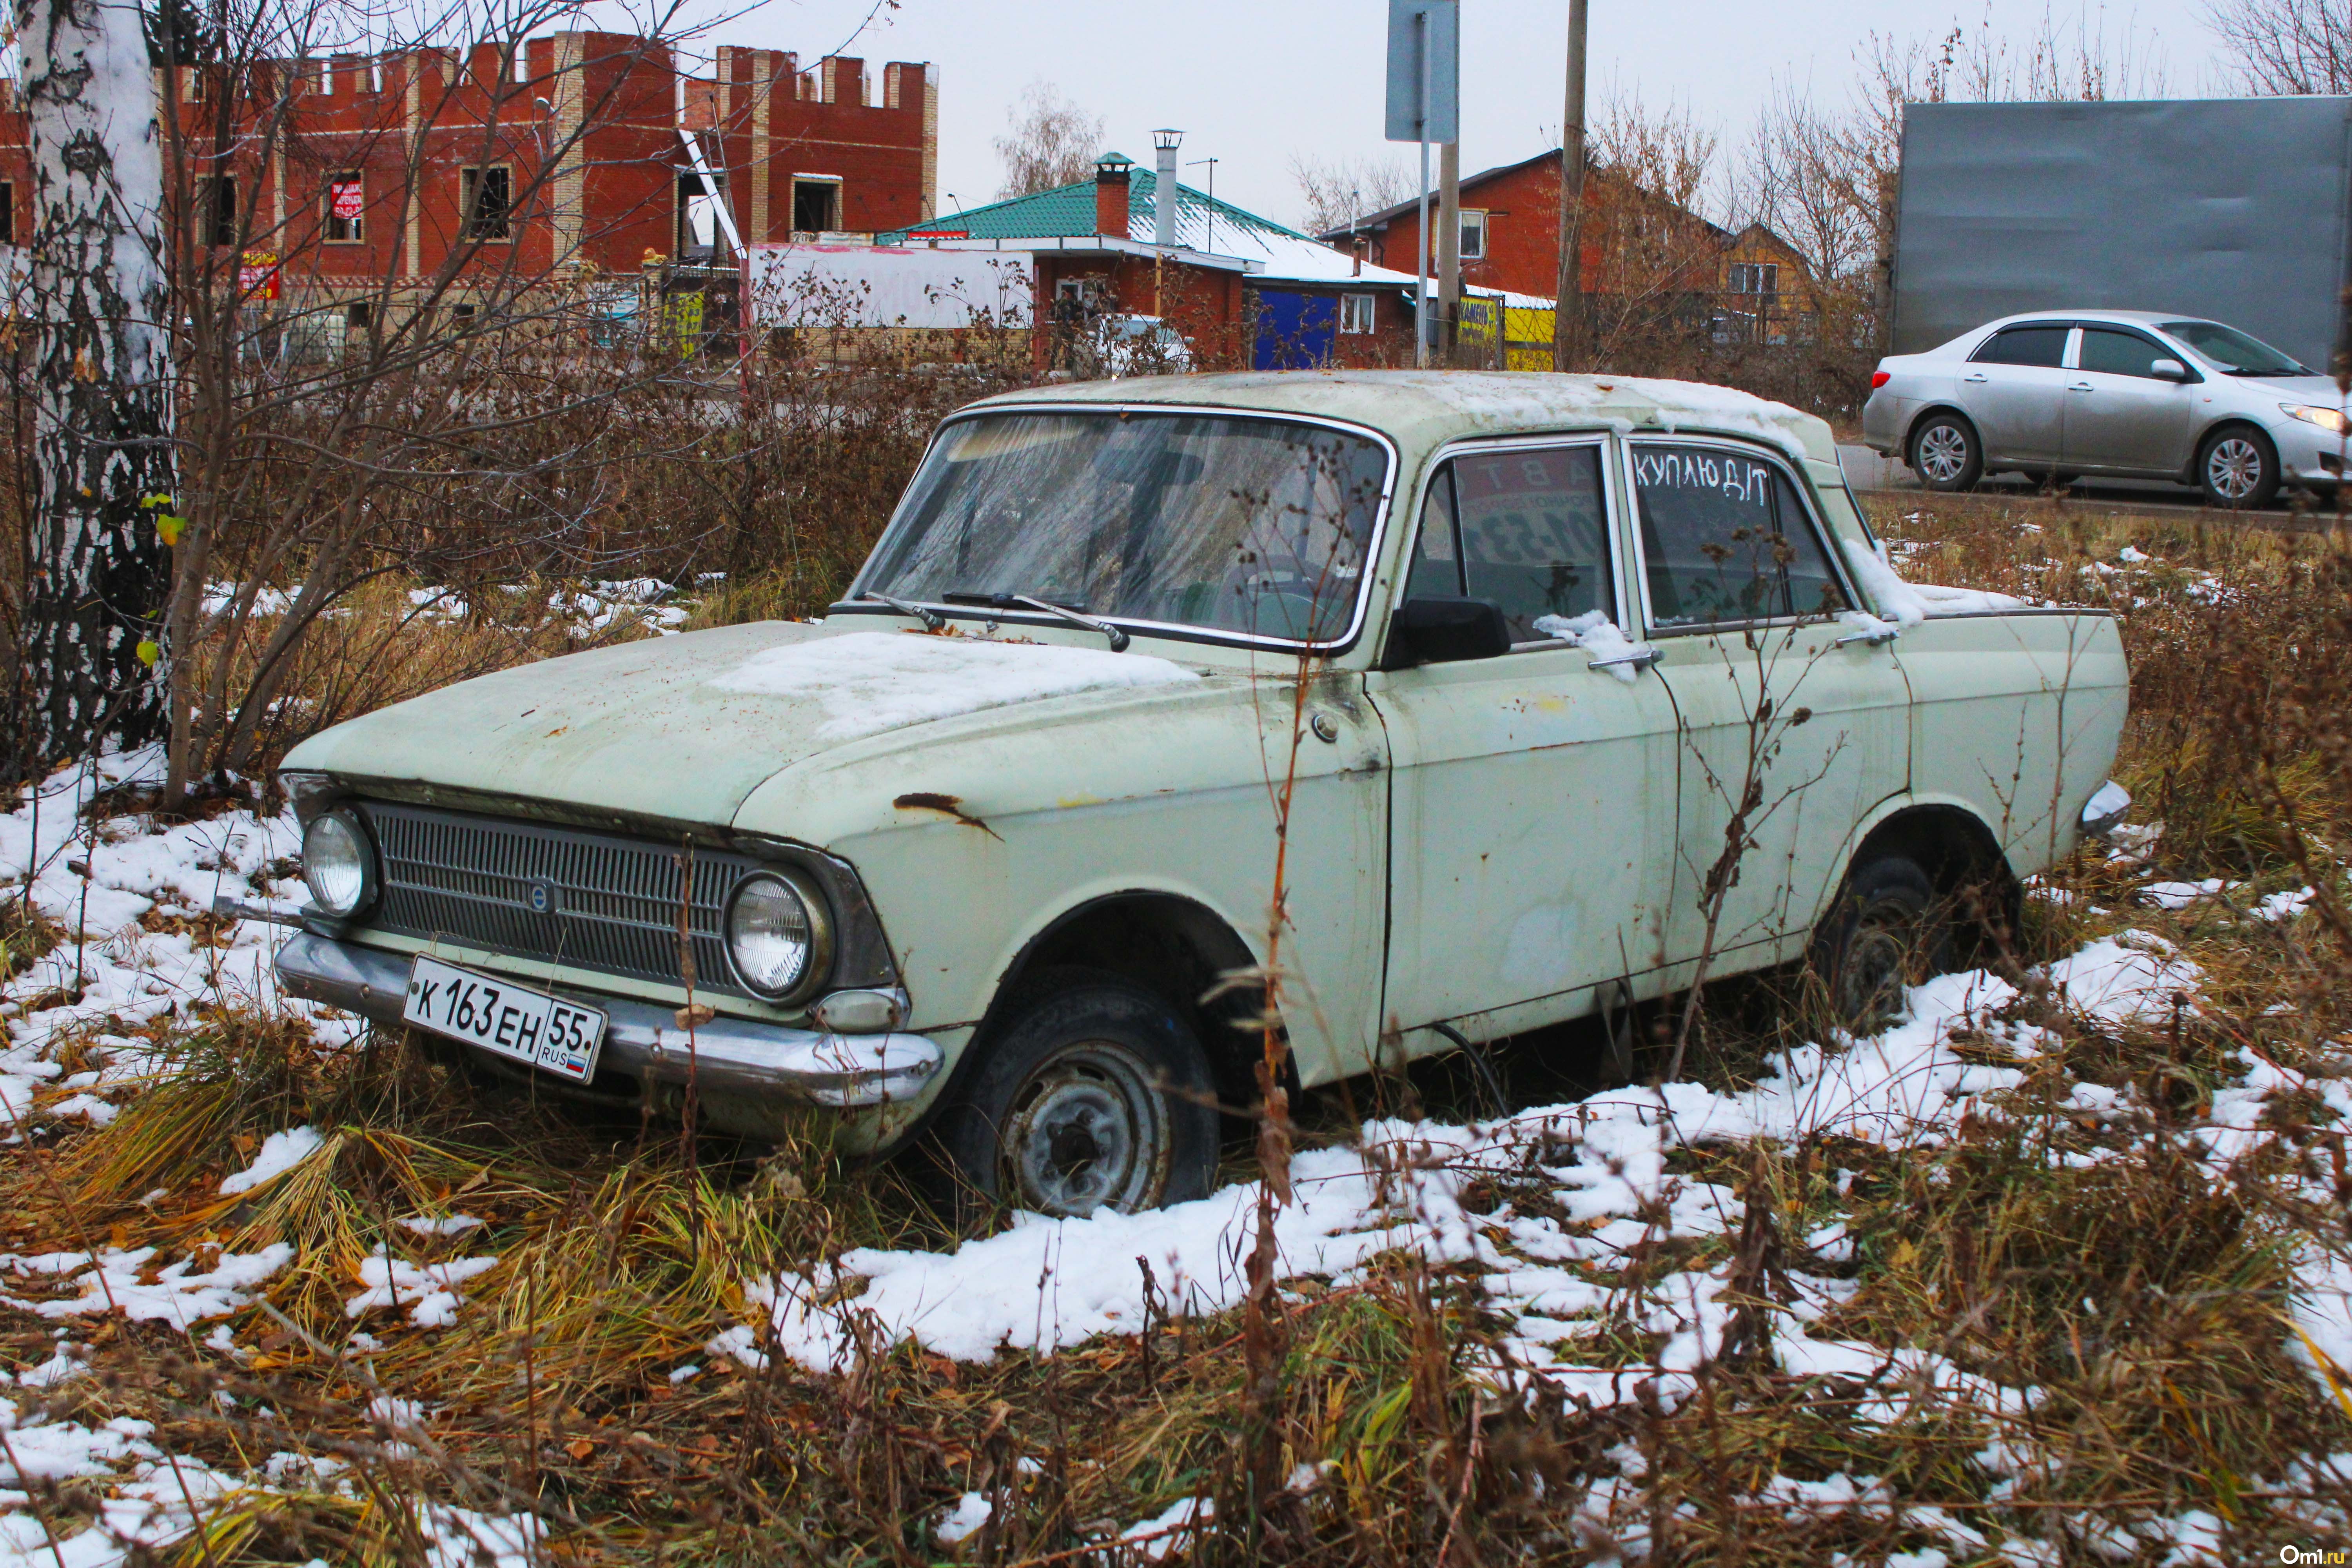
[[[1025,990],[981,1048],[941,1128],[976,1201],[1084,1215],[1209,1197],[1216,1084],[1167,999],[1063,969]]]

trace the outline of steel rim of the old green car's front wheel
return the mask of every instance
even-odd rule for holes
[[[1073,1218],[1150,1208],[1167,1187],[1174,1138],[1155,1077],[1110,1039],[1077,1041],[1040,1063],[1004,1119],[1007,1197]]]

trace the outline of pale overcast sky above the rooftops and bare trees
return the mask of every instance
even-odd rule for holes
[[[875,0],[767,0],[708,42],[797,49],[814,61]],[[1463,172],[1557,146],[1564,0],[1463,0]],[[2103,28],[2110,54],[2161,63],[2171,96],[2216,80],[2201,0],[1592,0],[1592,89],[1682,101],[1724,134],[1752,122],[1773,80],[1844,101],[1870,33],[1931,38],[1990,19],[2020,45],[2044,14],[2072,40]],[[903,0],[849,49],[941,68],[938,179],[955,205],[995,197],[1004,110],[1047,80],[1103,115],[1105,139],[1150,162],[1150,129],[1183,127],[1183,160],[1216,158],[1216,193],[1298,219],[1289,174],[1308,158],[1395,155],[1381,141],[1383,0]],[[1185,169],[1202,186],[1207,169]],[[946,205],[946,195],[941,197]]]

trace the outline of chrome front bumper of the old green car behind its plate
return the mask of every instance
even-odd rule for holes
[[[409,959],[296,931],[278,950],[278,983],[287,994],[400,1027]],[[597,1074],[612,1070],[661,1084],[684,1084],[691,1074],[699,1095],[741,1093],[842,1110],[884,1105],[913,1100],[946,1063],[938,1044],[922,1034],[821,1034],[713,1018],[689,1037],[673,1009],[602,992],[586,999],[607,1018]]]

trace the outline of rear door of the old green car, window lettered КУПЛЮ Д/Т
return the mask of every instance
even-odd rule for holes
[[[1844,562],[1778,456],[1642,440],[1628,458],[1644,625],[1679,717],[1665,950],[1717,973],[1790,957],[1853,825],[1907,788],[1891,628],[1839,618],[1856,607]]]

